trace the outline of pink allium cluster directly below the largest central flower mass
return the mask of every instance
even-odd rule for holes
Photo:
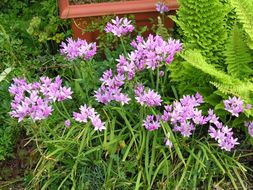
[[[161,96],[151,89],[144,90],[144,86],[142,84],[137,84],[134,92],[136,96],[135,99],[142,106],[153,107],[161,105]]]

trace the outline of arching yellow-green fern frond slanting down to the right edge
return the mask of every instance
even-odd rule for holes
[[[246,103],[253,104],[253,83],[250,81],[242,81],[224,71],[208,64],[200,51],[188,50],[182,57],[191,66],[208,74],[212,77],[212,85],[214,85],[221,93],[241,97]],[[253,116],[253,111],[247,111],[248,115]]]

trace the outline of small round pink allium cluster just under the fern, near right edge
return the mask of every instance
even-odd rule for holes
[[[225,110],[229,111],[233,116],[239,117],[239,113],[243,112],[243,101],[240,98],[229,97],[224,100]]]

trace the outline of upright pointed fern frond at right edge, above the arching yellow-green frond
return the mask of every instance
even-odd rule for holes
[[[234,26],[227,42],[225,55],[228,74],[240,79],[247,79],[253,74],[252,55],[244,42],[243,32],[237,25]]]

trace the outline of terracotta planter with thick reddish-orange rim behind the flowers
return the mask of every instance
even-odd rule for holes
[[[73,30],[74,37],[86,39],[87,41],[96,41],[99,34],[98,31],[82,33],[82,29],[87,27],[92,18],[104,15],[116,14],[124,16],[126,14],[134,14],[136,25],[138,27],[147,26],[150,30],[152,26],[151,19],[156,22],[157,16],[159,15],[155,9],[155,4],[158,1],[159,0],[133,0],[70,5],[68,0],[58,0],[58,4],[60,9],[60,18],[73,19],[71,28]],[[166,0],[165,4],[169,7],[170,14],[175,14],[175,10],[179,7],[176,0]],[[172,20],[166,17],[165,26],[172,28]],[[147,31],[146,34],[147,33],[150,33],[150,31]]]

